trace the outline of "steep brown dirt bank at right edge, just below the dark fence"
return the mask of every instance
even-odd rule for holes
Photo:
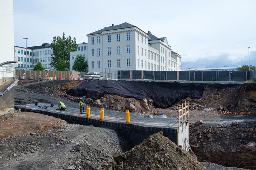
[[[256,110],[256,83],[245,83],[228,96],[223,109],[236,112]]]

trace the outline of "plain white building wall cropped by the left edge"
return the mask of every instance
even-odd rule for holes
[[[0,63],[14,61],[14,26],[13,26],[13,0],[0,1]],[[13,67],[14,64],[6,64]],[[13,77],[14,72],[6,72],[6,67],[0,67],[0,79]]]

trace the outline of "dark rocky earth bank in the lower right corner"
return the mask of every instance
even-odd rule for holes
[[[190,124],[190,146],[199,160],[256,169],[256,122]]]

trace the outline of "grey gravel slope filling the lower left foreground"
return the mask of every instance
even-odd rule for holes
[[[7,170],[97,169],[111,162],[113,153],[130,149],[118,131],[74,124],[47,134],[6,137],[0,146],[0,167]]]

